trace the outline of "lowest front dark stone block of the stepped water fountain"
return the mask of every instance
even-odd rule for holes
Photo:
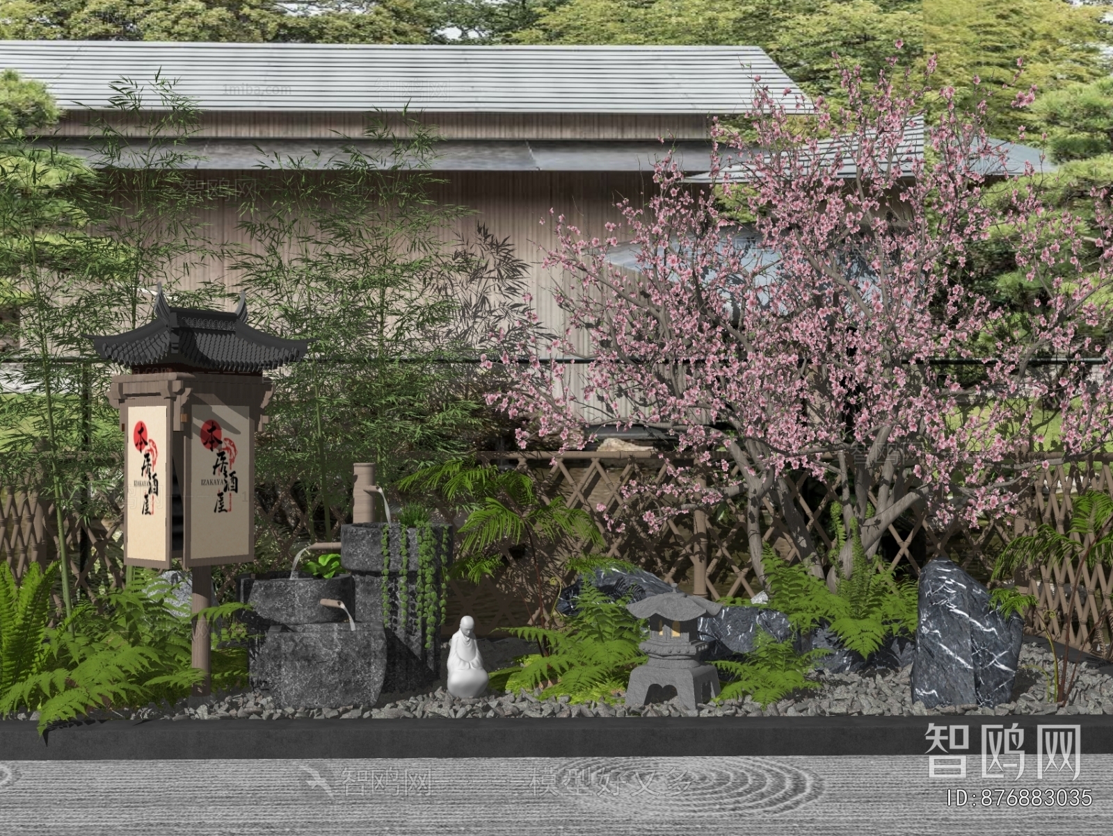
[[[250,679],[283,706],[373,705],[386,674],[382,625],[272,627],[250,641]]]

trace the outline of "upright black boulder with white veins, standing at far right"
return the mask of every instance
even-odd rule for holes
[[[913,700],[938,705],[1007,703],[1024,625],[989,606],[989,590],[957,564],[936,559],[919,576]]]

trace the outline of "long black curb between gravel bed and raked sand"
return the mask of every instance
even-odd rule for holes
[[[1084,755],[1113,754],[1113,716],[669,717],[367,720],[111,720],[50,729],[0,720],[2,760],[924,755],[936,726],[1080,726]],[[938,750],[936,750],[938,753]],[[953,754],[953,753],[952,753]]]

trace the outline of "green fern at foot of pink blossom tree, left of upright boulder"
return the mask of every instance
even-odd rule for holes
[[[844,647],[868,658],[888,636],[915,633],[917,589],[914,581],[899,580],[892,568],[866,555],[857,526],[851,537],[854,570],[838,579],[834,593],[805,566],[786,564],[767,547],[769,606],[800,631],[827,624]]]

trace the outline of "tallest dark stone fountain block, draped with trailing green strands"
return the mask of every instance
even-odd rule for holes
[[[452,563],[452,526],[433,524],[431,566],[433,586]],[[383,533],[387,533],[383,549]],[[422,688],[441,677],[441,614],[426,620],[417,617],[421,559],[416,528],[406,530],[403,566],[402,526],[393,522],[361,522],[341,527],[341,563],[352,573],[355,589],[355,618],[359,623],[382,624],[386,633],[387,666],[383,691]],[[383,611],[383,585],[386,584],[387,611]],[[406,591],[403,618],[402,589]]]

